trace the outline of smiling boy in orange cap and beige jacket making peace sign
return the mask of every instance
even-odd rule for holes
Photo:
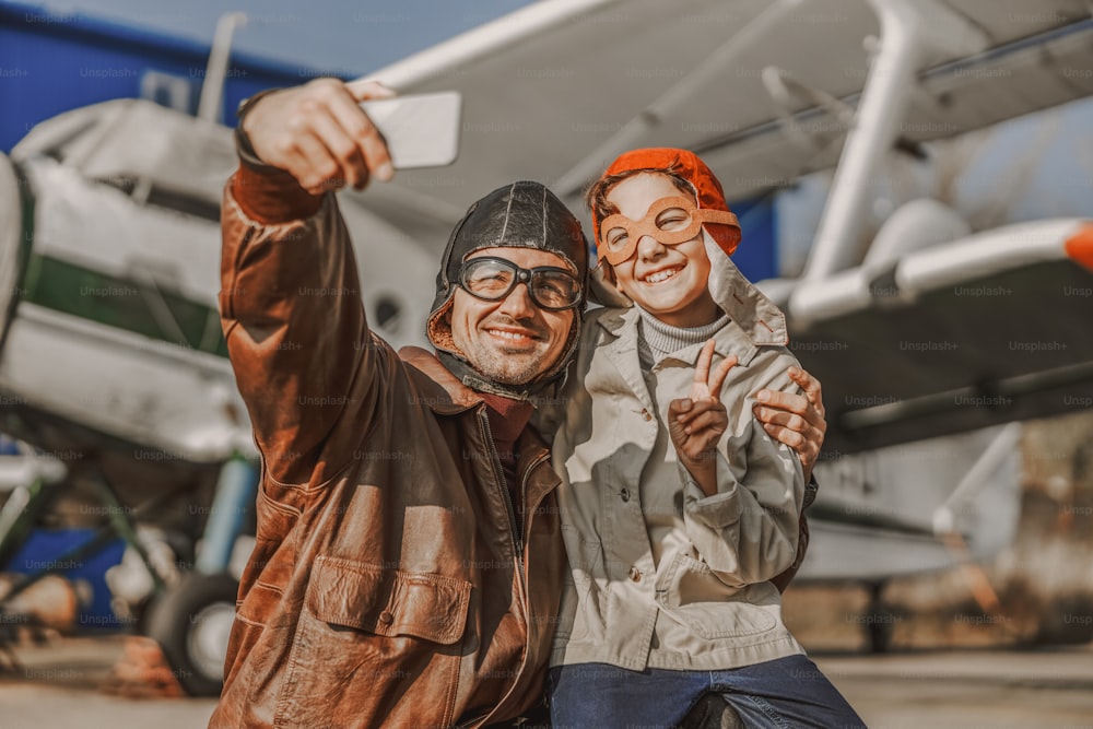
[[[806,479],[752,393],[795,387],[796,360],[728,258],[720,184],[687,151],[637,150],[588,201],[602,277],[636,306],[588,316],[554,439],[573,577],[554,726],[673,726],[710,692],[748,726],[862,726],[771,581],[795,562]]]

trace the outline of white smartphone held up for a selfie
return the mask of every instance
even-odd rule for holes
[[[379,133],[396,169],[443,167],[459,154],[462,95],[458,91],[409,94],[361,103]]]

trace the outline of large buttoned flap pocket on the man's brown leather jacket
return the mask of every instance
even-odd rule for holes
[[[451,724],[470,593],[461,579],[320,556],[275,726]]]

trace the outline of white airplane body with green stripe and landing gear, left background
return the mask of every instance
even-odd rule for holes
[[[218,58],[208,78],[224,78],[226,50]],[[31,484],[0,510],[0,564],[58,486],[70,510],[109,517],[51,562],[125,538],[106,574],[125,598],[115,612],[160,639],[199,695],[223,680],[238,590],[226,573],[248,551],[237,537],[254,518],[258,460],[218,313],[233,132],[207,116],[109,101],[47,119],[0,155],[0,432],[34,447],[0,473],[0,490]],[[364,305],[389,342],[423,344],[435,264],[419,240],[450,225],[387,198],[383,216],[341,205]],[[0,585],[0,611],[33,595],[32,580]]]

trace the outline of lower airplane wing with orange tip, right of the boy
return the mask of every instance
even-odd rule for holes
[[[800,283],[790,348],[854,452],[1093,407],[1093,223],[1022,223]]]

